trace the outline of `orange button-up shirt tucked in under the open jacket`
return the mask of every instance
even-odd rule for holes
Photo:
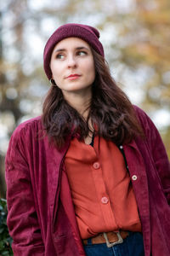
[[[111,230],[141,231],[132,183],[114,143],[97,136],[92,147],[74,137],[65,169],[82,239]]]

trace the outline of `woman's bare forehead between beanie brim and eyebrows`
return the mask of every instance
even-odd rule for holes
[[[89,44],[81,38],[65,38],[56,44],[54,49],[70,49],[77,47],[86,47],[90,49]]]

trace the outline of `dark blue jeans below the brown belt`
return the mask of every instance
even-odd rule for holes
[[[84,245],[87,256],[144,256],[143,236],[139,232],[129,232],[123,243],[108,248],[105,243]]]

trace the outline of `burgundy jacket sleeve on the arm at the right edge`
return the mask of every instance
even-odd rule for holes
[[[149,148],[150,159],[153,160],[154,166],[156,166],[156,172],[161,179],[162,189],[170,205],[170,163],[166,148],[156,126],[148,115],[140,108],[137,108],[137,113],[144,129],[145,142]]]

